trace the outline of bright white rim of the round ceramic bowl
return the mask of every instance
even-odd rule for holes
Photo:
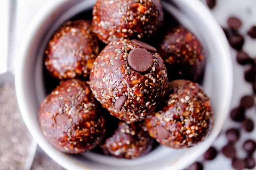
[[[18,105],[22,114],[22,118],[28,128],[28,130],[30,131],[30,133],[32,134],[32,136],[35,138],[36,142],[43,148],[43,150],[52,158],[54,159],[58,164],[60,164],[61,166],[63,166],[64,168],[67,169],[84,169],[84,168],[90,168],[90,167],[81,167],[78,164],[76,164],[75,162],[73,163],[73,165],[69,164],[68,162],[65,162],[63,160],[61,160],[61,158],[56,158],[54,156],[52,156],[50,154],[50,152],[46,151],[46,149],[44,149],[42,142],[39,141],[39,139],[37,138],[37,131],[33,129],[32,124],[30,123],[30,119],[29,118],[29,109],[26,107],[25,105],[25,100],[24,100],[24,94],[26,94],[24,92],[24,75],[23,75],[23,71],[25,69],[25,63],[26,63],[26,58],[27,58],[27,51],[29,49],[29,44],[32,41],[32,39],[36,36],[36,33],[38,32],[38,28],[40,27],[40,25],[46,20],[47,17],[49,17],[59,6],[61,6],[63,3],[68,2],[70,0],[56,0],[56,1],[47,1],[47,3],[38,11],[38,13],[35,15],[35,17],[33,18],[33,20],[31,21],[31,23],[29,24],[26,34],[24,34],[22,41],[20,43],[19,49],[18,49],[18,54],[19,57],[16,57],[16,69],[15,69],[15,88],[16,88],[16,94],[17,94],[17,100],[18,100]],[[81,0],[80,0],[81,1]],[[79,1],[79,2],[80,2]],[[230,56],[230,51],[229,51],[229,44],[227,42],[227,39],[221,29],[221,27],[218,25],[218,23],[215,21],[215,19],[213,18],[212,14],[210,13],[210,11],[199,1],[199,0],[195,0],[193,2],[191,2],[190,0],[173,0],[174,3],[176,3],[179,6],[180,4],[185,4],[189,7],[191,7],[192,9],[198,9],[200,8],[201,10],[197,10],[198,15],[202,16],[202,19],[209,25],[209,30],[213,31],[213,32],[218,32],[219,36],[216,36],[216,40],[220,43],[220,47],[221,49],[219,49],[223,56],[223,64],[226,67],[226,95],[225,95],[225,99],[224,99],[224,105],[226,106],[226,108],[222,108],[223,113],[225,113],[225,119],[223,119],[223,121],[221,122],[221,126],[218,127],[216,133],[214,133],[214,135],[211,136],[211,139],[209,139],[209,144],[208,147],[212,144],[212,142],[214,141],[214,139],[218,136],[219,132],[221,131],[224,122],[227,118],[228,115],[228,111],[229,111],[229,107],[230,107],[230,103],[231,103],[231,97],[232,97],[232,89],[233,89],[233,71],[232,71],[232,62],[231,62],[231,56]],[[185,7],[184,7],[185,8]],[[207,25],[206,24],[206,25]],[[211,26],[211,27],[210,27]],[[200,155],[202,155],[202,153],[207,149],[207,146],[204,146],[204,149],[201,149],[199,152],[195,153],[195,158],[191,158],[189,160],[186,161],[185,165],[189,165],[191,163],[193,163]],[[68,156],[67,156],[68,159]],[[184,162],[183,164],[180,163],[180,166],[176,166],[175,169],[181,169],[184,168]],[[166,167],[165,167],[166,168]],[[168,167],[169,168],[169,167]]]

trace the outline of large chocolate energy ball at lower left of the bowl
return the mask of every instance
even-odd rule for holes
[[[41,103],[38,117],[46,139],[65,153],[88,151],[105,133],[98,102],[89,85],[78,79],[61,82]]]

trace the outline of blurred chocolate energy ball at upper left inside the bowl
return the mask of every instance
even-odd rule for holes
[[[88,76],[99,51],[97,37],[88,21],[66,22],[57,30],[45,51],[45,65],[62,80]]]

